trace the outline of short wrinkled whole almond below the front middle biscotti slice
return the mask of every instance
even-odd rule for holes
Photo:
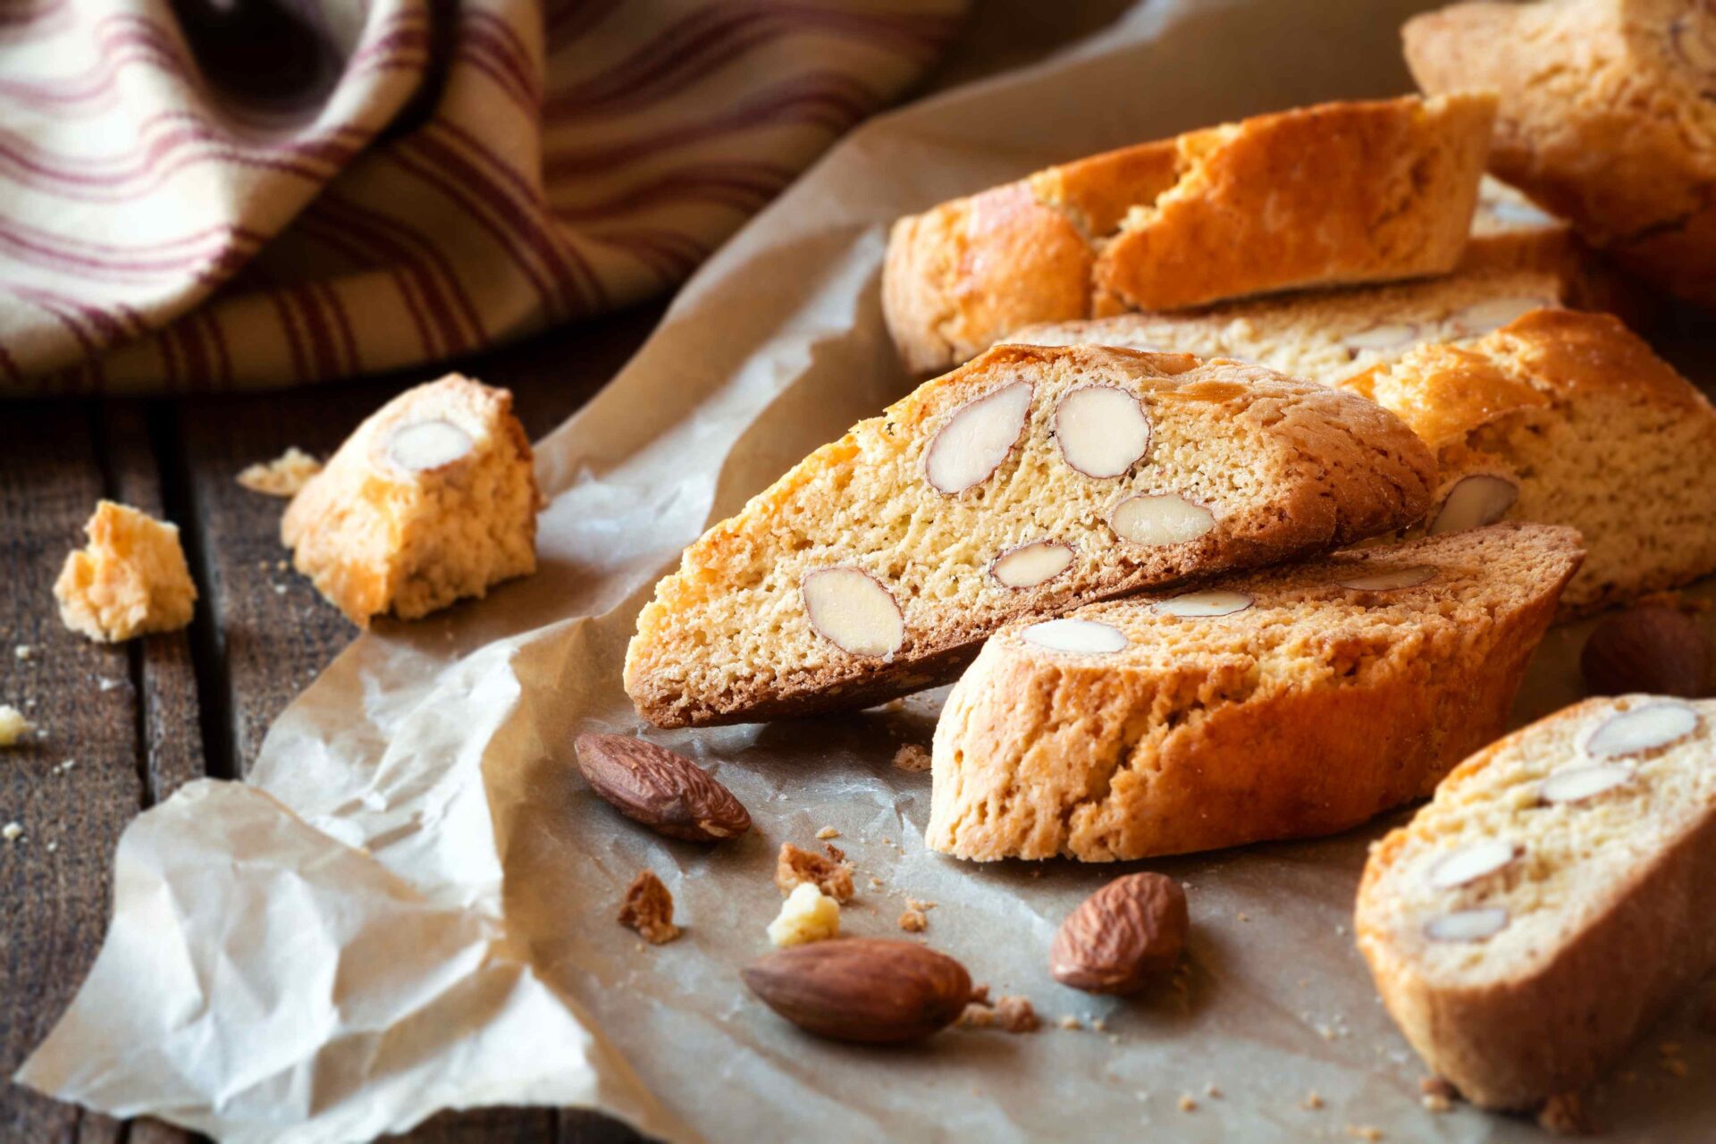
[[[1086,993],[1136,993],[1174,971],[1191,919],[1186,892],[1155,873],[1115,878],[1067,914],[1048,972]]]

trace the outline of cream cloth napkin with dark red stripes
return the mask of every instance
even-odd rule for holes
[[[431,362],[681,280],[964,0],[0,0],[0,394]]]

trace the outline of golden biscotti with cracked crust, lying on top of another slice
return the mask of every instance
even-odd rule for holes
[[[903,218],[882,307],[906,367],[1031,322],[1453,269],[1489,94],[1325,103],[1110,151]]]

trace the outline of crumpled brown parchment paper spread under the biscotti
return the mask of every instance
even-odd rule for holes
[[[249,786],[192,784],[127,830],[113,928],[21,1079],[227,1141],[362,1139],[499,1103],[589,1105],[671,1141],[1536,1137],[1524,1120],[1419,1108],[1424,1070],[1352,947],[1364,847],[1405,813],[1121,868],[956,863],[921,844],[928,774],[891,767],[897,746],[928,743],[939,691],[652,732],[750,808],[757,828],[734,846],[618,818],[570,751],[582,729],[640,729],[619,662],[681,545],[909,388],[877,304],[889,220],[1138,139],[1405,91],[1395,29],[1414,7],[1148,3],[1045,65],[855,132],[541,444],[553,504],[534,578],[378,626],[281,715]],[[1575,698],[1580,638],[1551,633],[1520,719]],[[813,1041],[757,1003],[738,967],[767,950],[772,854],[824,825],[860,873],[846,931],[897,936],[904,895],[934,900],[927,940],[1028,995],[1047,1027],[880,1051]],[[614,924],[645,866],[686,926],[671,945]],[[1114,1002],[1054,984],[1045,950],[1066,911],[1145,866],[1187,883],[1189,988]],[[1709,1139],[1711,1041],[1689,1019],[1690,1003],[1639,1048],[1632,1082],[1599,1091],[1616,1139]],[[1656,1039],[1685,1045],[1690,1079],[1658,1067]],[[1302,1106],[1313,1091],[1321,1108]]]

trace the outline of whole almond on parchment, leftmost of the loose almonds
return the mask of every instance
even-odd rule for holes
[[[686,842],[721,842],[750,830],[733,792],[673,751],[623,734],[580,734],[578,770],[626,818]]]

